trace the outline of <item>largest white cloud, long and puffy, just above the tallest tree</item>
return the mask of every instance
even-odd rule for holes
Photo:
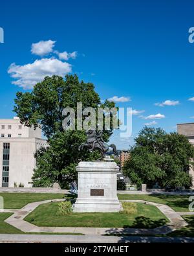
[[[12,84],[16,84],[24,89],[32,89],[45,76],[65,76],[71,71],[72,67],[69,63],[61,62],[61,60],[56,58],[42,58],[26,65],[16,65],[13,63],[8,68],[10,76],[16,79]]]

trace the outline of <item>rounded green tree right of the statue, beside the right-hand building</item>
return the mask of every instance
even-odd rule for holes
[[[194,148],[184,135],[145,127],[135,139],[124,173],[138,187],[142,183],[150,188],[156,183],[162,188],[190,187],[192,158]]]

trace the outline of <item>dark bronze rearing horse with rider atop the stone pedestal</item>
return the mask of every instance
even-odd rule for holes
[[[83,148],[87,148],[90,152],[98,150],[101,154],[100,159],[103,159],[103,157],[105,157],[105,153],[109,150],[109,148],[113,148],[114,154],[118,155],[116,146],[114,144],[108,145],[103,141],[102,131],[96,132],[96,130],[87,130],[86,135],[87,143],[82,143],[79,147],[79,150],[82,150]]]

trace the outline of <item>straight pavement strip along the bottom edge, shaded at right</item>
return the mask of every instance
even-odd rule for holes
[[[0,242],[54,242],[54,243],[153,243],[153,242],[168,242],[168,243],[193,243],[193,237],[116,237],[100,235],[0,235]]]

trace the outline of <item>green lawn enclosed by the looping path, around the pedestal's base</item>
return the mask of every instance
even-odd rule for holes
[[[130,203],[129,203],[130,204]],[[57,215],[58,203],[39,205],[25,220],[36,226],[47,227],[145,227],[162,226],[168,220],[153,205],[136,204],[137,212],[123,213],[72,213]]]

